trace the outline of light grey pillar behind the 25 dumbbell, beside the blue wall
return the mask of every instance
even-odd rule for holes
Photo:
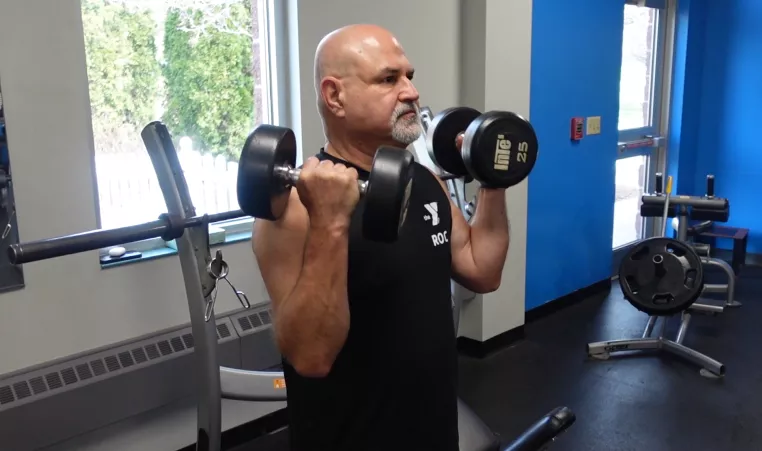
[[[529,119],[532,0],[464,0],[462,5],[463,103]],[[464,304],[462,336],[485,341],[524,324],[528,189],[525,180],[506,191],[511,242],[502,284]]]

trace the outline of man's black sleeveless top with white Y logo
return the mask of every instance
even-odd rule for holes
[[[341,162],[322,149],[321,160]],[[330,373],[284,361],[293,451],[458,451],[457,352],[450,298],[450,200],[415,163],[407,218],[391,244],[350,226],[350,330]]]

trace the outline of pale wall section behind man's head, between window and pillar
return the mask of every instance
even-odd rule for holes
[[[292,0],[292,2],[295,0]],[[459,100],[459,0],[299,0],[299,79],[302,149],[306,156],[325,142],[317,114],[313,58],[328,32],[353,23],[374,23],[394,33],[416,68],[421,104],[433,111]]]

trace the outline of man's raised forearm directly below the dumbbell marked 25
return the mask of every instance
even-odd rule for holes
[[[471,253],[484,277],[499,282],[508,253],[509,224],[505,190],[480,189],[471,221]]]

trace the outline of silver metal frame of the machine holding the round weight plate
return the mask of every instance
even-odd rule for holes
[[[655,196],[663,196],[662,186],[662,174],[656,175],[656,193]],[[644,195],[641,200],[641,210],[645,205],[645,201],[648,195]],[[692,196],[675,196],[670,199],[669,193],[667,193],[666,199],[659,200],[664,202],[664,214],[662,215],[662,236],[666,232],[666,224],[670,216],[677,217],[679,225],[677,228],[677,240],[688,243],[688,219],[691,217],[688,211],[689,206],[700,205],[702,199],[714,199],[714,177],[707,177],[707,195],[703,198]],[[672,205],[670,205],[670,203]],[[669,208],[674,206],[675,214],[669,214]],[[645,215],[643,215],[645,216]],[[646,328],[643,331],[641,338],[633,339],[621,339],[621,340],[609,340],[599,341],[595,343],[589,343],[587,345],[588,356],[599,359],[607,360],[611,354],[623,353],[630,351],[642,351],[642,350],[658,350],[666,351],[670,354],[682,357],[690,362],[701,367],[700,374],[707,378],[720,378],[725,375],[725,365],[717,360],[702,354],[694,349],[691,349],[683,344],[685,335],[688,332],[688,326],[691,322],[691,312],[702,312],[719,314],[725,311],[725,307],[736,307],[740,303],[735,302],[735,273],[733,268],[724,260],[717,258],[710,258],[709,256],[700,256],[703,265],[716,266],[722,269],[728,275],[728,283],[725,284],[705,284],[702,290],[703,293],[726,293],[728,295],[727,300],[723,306],[705,304],[700,302],[694,302],[687,310],[681,312],[680,328],[677,331],[677,335],[674,340],[665,338],[667,321],[670,317],[663,317],[661,323],[661,331],[658,337],[652,337],[654,326],[658,320],[658,316],[651,315],[646,323]]]

